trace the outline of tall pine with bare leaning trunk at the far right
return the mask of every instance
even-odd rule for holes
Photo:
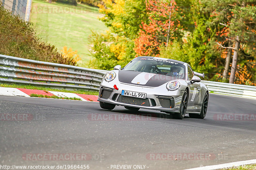
[[[207,4],[206,11],[212,12],[214,23],[218,23],[222,28],[228,30],[226,36],[219,37],[221,43],[218,43],[222,48],[234,50],[233,61],[229,83],[235,82],[237,62],[239,61],[240,46],[245,45],[249,48],[255,46],[255,26],[256,26],[256,2],[253,0],[218,0],[207,1],[202,3]],[[225,39],[223,39],[225,38]],[[225,47],[227,40],[232,41],[235,47]],[[232,44],[233,44],[232,43]]]

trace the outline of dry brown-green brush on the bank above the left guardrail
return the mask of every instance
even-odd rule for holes
[[[77,65],[73,58],[63,58],[55,46],[36,37],[32,24],[13,16],[0,4],[0,54],[44,62]]]

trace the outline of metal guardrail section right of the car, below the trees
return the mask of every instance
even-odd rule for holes
[[[201,82],[208,87],[209,91],[213,91],[214,93],[256,99],[256,86],[237,85],[205,80],[202,80]]]

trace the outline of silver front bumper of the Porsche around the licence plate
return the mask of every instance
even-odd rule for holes
[[[114,89],[114,85],[118,90]],[[122,90],[146,93],[146,99],[122,96]],[[168,91],[166,84],[158,87],[145,87],[140,85],[130,85],[117,81],[100,84],[98,101],[111,103],[120,106],[139,107],[145,109],[159,110],[163,112],[177,113],[180,111],[180,103],[184,91]]]

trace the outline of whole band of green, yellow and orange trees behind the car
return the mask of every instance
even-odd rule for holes
[[[109,30],[101,34],[93,32],[90,37],[92,68],[112,70],[117,64],[124,67],[137,56],[157,56],[187,62],[195,71],[204,72],[205,80],[228,82],[228,79],[233,81],[230,70],[236,62],[232,58],[238,56],[234,64],[235,83],[256,85],[255,1],[103,0],[103,3],[98,5],[103,14],[100,20]],[[233,57],[235,51],[238,55]],[[226,60],[228,54],[230,61]],[[227,78],[222,78],[224,70]]]

